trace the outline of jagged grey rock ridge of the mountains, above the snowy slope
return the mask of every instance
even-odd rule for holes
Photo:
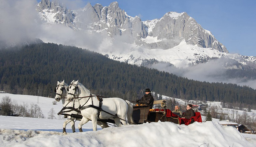
[[[39,7],[45,19],[48,18],[47,13],[56,13],[51,18],[55,19],[54,23],[110,37],[128,35],[134,39],[135,44],[148,49],[170,49],[185,41],[189,45],[228,53],[226,47],[210,31],[204,30],[186,12],[167,12],[160,19],[142,22],[138,16],[127,15],[119,8],[118,2],[104,7],[88,3],[83,9],[71,11],[58,3],[42,0]]]

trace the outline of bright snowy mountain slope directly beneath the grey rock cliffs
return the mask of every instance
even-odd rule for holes
[[[151,36],[147,36],[147,38],[143,39],[144,41],[150,42],[152,40],[157,41],[156,38]],[[112,44],[114,46],[114,44]],[[143,46],[138,45],[130,45],[126,44],[127,48],[130,50],[126,50],[126,52],[119,52],[119,50],[113,50],[112,52],[108,52],[103,49],[101,54],[107,55],[110,59],[118,60],[121,62],[127,62],[130,64],[141,65],[143,59],[156,59],[158,61],[169,62],[174,64],[179,68],[186,68],[189,65],[196,65],[197,62],[201,63],[208,61],[210,58],[229,58],[236,59],[240,61],[240,63],[246,64],[243,58],[241,58],[238,54],[229,54],[224,52],[219,52],[213,48],[202,48],[194,45],[186,44],[183,40],[179,45],[170,48],[170,49],[147,49]],[[129,47],[128,47],[129,46]],[[256,58],[255,58],[256,62]]]

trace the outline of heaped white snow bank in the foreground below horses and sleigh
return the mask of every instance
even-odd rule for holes
[[[189,126],[153,122],[67,135],[56,131],[1,129],[0,143],[2,146],[13,147],[255,146],[246,141],[235,128],[211,121],[195,122]]]

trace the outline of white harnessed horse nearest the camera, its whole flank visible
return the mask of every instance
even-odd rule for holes
[[[125,101],[120,98],[105,98],[101,103],[102,110],[99,113],[99,109],[91,106],[100,106],[99,100],[90,94],[90,91],[86,89],[78,80],[72,82],[69,86],[69,93],[67,99],[71,102],[74,98],[77,98],[81,108],[81,115],[83,116],[81,122],[78,124],[79,131],[82,132],[83,124],[89,120],[93,122],[93,130],[97,131],[97,120],[98,119],[113,119],[115,124],[120,127],[121,122],[127,125],[127,120],[131,123],[132,119],[132,104],[129,101]],[[99,116],[98,116],[99,113]],[[113,116],[114,115],[114,116]],[[119,119],[120,118],[120,119]],[[121,121],[121,122],[120,122]]]

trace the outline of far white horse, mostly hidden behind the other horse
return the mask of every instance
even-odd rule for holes
[[[72,109],[76,109],[80,106],[78,100],[74,100],[73,102],[69,102],[67,101],[67,99],[65,99],[68,95],[68,84],[66,84],[64,82],[64,80],[62,82],[57,82],[57,87],[55,88],[55,92],[56,92],[56,95],[55,95],[55,100],[57,102],[59,102],[60,100],[62,101],[62,104],[63,104],[63,108],[65,107],[66,109],[63,109],[63,111],[68,111],[68,112],[65,112],[65,114],[75,114],[75,115],[78,115],[79,112],[78,111],[71,111]],[[73,133],[75,132],[75,122],[74,122],[75,118],[72,118],[71,116],[67,116],[67,120],[64,121],[63,123],[63,134],[67,134],[66,132],[66,126],[68,123],[71,124],[71,128],[72,128],[72,131]],[[77,119],[77,120],[81,120],[81,119]],[[107,128],[109,127],[108,124],[106,123],[101,123],[101,122],[98,122],[98,125],[101,126],[101,128]]]

